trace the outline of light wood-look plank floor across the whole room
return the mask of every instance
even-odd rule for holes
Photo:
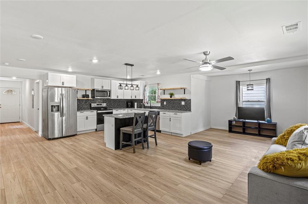
[[[269,138],[209,129],[158,146],[113,151],[104,132],[46,140],[22,123],[1,124],[0,203],[247,203],[247,172]],[[213,144],[212,162],[188,160],[187,143]],[[146,145],[145,145],[146,146]]]

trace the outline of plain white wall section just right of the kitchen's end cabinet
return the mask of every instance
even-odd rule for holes
[[[191,76],[192,134],[211,128],[211,77]]]

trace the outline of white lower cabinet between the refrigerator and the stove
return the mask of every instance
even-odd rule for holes
[[[95,131],[96,111],[77,112],[77,133]]]

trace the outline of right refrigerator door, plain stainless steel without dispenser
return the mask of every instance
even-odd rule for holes
[[[77,90],[62,88],[63,136],[77,134]]]

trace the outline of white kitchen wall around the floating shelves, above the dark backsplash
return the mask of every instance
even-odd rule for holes
[[[187,89],[174,89],[174,90],[166,90],[165,95],[164,91],[160,92],[161,98],[169,98],[168,93],[173,92],[175,94],[174,97],[186,97],[191,98],[191,74],[175,74],[175,75],[167,75],[167,76],[156,76],[142,79],[146,81],[146,84],[154,84],[160,83],[160,88],[172,88],[172,87],[186,87]]]

